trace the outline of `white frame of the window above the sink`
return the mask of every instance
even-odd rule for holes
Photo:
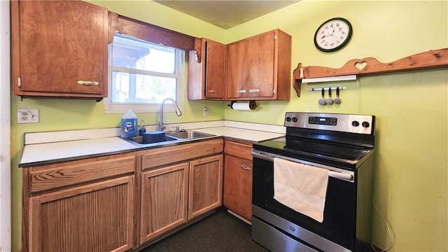
[[[138,39],[138,38],[136,38]],[[151,42],[148,42],[151,43]],[[112,43],[109,45],[109,53],[108,55],[111,55],[111,47]],[[176,48],[176,69],[175,74],[177,78],[176,83],[176,104],[179,106],[179,109],[183,111],[183,102],[184,97],[186,93],[186,78],[185,78],[185,72],[186,72],[186,52],[184,50]],[[112,66],[112,57],[109,56],[109,69],[108,69],[108,97],[104,97],[104,113],[125,113],[128,109],[132,109],[134,113],[154,113],[160,111],[160,103],[153,103],[153,104],[143,104],[143,103],[116,103],[112,102],[112,73],[113,73],[113,66]],[[130,71],[130,69],[127,69],[125,67],[115,67],[114,69],[119,70],[121,69],[124,72],[127,73],[139,73],[139,71]],[[155,74],[154,76],[168,76],[163,73]],[[172,77],[172,74],[169,74],[169,77]],[[167,112],[174,112],[174,106],[165,106],[164,111]]]

